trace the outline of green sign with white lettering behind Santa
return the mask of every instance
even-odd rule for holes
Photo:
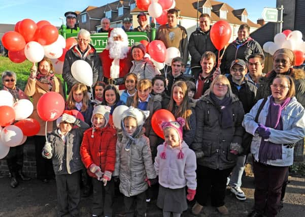
[[[131,46],[134,42],[140,42],[141,40],[146,40],[149,42],[149,38],[146,33],[143,32],[127,32],[129,46]],[[77,38],[77,34],[65,34],[65,38]],[[101,52],[105,49],[108,40],[108,33],[94,33],[90,35],[91,42],[96,49],[96,52]]]

